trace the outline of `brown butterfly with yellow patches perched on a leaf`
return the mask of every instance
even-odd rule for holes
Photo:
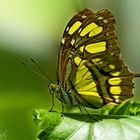
[[[84,9],[67,24],[50,92],[70,106],[101,108],[133,97],[134,77],[120,57],[115,19],[106,9]]]

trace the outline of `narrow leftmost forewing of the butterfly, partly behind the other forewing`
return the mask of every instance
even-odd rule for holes
[[[90,10],[85,9],[76,14],[67,24],[67,27],[65,28],[62,37],[58,55],[57,71],[58,84],[61,86],[65,85],[67,63],[69,61],[72,49],[75,48],[73,41],[75,41],[75,39],[79,37],[79,34],[77,33],[78,28],[80,28],[81,24],[85,21],[85,18],[82,17],[83,15],[89,17],[90,15],[92,15],[92,12]]]

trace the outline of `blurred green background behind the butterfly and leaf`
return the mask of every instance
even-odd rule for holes
[[[139,5],[139,0],[0,0],[0,140],[37,139],[32,110],[51,107],[48,82],[20,62],[36,70],[29,60],[35,59],[55,82],[61,36],[78,10],[112,11],[121,55],[131,71],[140,72]],[[140,79],[134,82],[139,100]]]

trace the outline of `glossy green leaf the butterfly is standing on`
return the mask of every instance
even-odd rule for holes
[[[140,140],[140,103],[107,105],[84,113],[36,110],[34,122],[40,140]]]

